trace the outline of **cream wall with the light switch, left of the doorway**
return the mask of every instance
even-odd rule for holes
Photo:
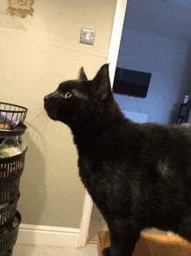
[[[115,0],[35,1],[34,17],[6,14],[0,3],[0,101],[29,109],[29,146],[18,210],[23,224],[76,227],[84,187],[69,128],[43,111],[43,97],[77,78],[81,66],[93,78],[108,59]],[[81,28],[95,30],[95,44],[80,44]]]

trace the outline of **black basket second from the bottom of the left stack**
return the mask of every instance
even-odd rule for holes
[[[0,205],[0,229],[11,223],[16,215],[16,205],[20,197],[20,193],[17,194],[16,198],[10,203]]]

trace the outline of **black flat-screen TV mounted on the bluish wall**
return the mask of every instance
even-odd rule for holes
[[[151,73],[116,68],[113,91],[146,98],[151,75]]]

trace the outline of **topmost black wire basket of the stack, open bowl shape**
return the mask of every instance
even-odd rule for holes
[[[23,124],[27,111],[23,106],[0,102],[0,129],[11,130]]]

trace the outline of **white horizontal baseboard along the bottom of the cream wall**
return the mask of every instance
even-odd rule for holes
[[[16,243],[77,248],[79,239],[80,229],[78,228],[21,224]]]

